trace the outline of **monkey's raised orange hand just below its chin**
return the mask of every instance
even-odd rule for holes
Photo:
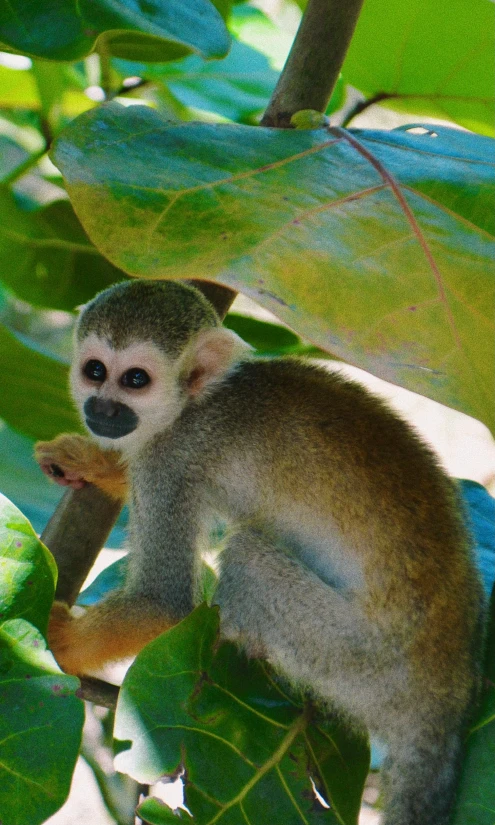
[[[125,463],[117,450],[102,450],[90,438],[74,433],[38,441],[34,455],[42,471],[62,487],[79,490],[91,483],[113,499],[127,498]]]

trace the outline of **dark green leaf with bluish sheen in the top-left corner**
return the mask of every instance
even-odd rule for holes
[[[209,0],[0,0],[0,48],[78,60],[95,47],[131,60],[223,57],[229,38]]]

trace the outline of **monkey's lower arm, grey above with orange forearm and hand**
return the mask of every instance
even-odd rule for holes
[[[151,453],[143,477],[133,476],[131,552],[122,589],[78,617],[63,603],[53,606],[48,642],[68,673],[83,675],[134,656],[194,606],[200,565],[195,487],[171,468],[172,455],[158,458],[159,472],[155,461]]]

